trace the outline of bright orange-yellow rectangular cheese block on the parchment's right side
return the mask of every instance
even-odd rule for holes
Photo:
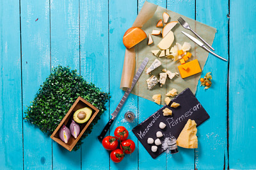
[[[185,63],[184,65],[179,65],[178,68],[180,71],[181,78],[186,78],[186,77],[189,77],[196,73],[202,72],[197,59],[189,61],[188,63]]]

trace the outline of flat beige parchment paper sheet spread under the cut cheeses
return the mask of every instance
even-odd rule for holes
[[[145,2],[145,4],[147,5],[147,7],[151,6],[151,5],[156,6],[155,4],[148,3],[147,1]],[[143,7],[145,6],[145,4],[143,5]],[[204,38],[204,40],[206,42],[208,42],[210,45],[212,45],[212,42],[214,40],[214,36],[216,33],[216,29],[214,27],[210,27],[210,26],[202,24],[196,20],[189,19],[188,17],[180,15],[179,13],[175,13],[170,10],[167,10],[166,8],[162,8],[161,6],[157,6],[157,10],[154,13],[154,16],[152,18],[150,18],[149,20],[147,20],[147,22],[145,24],[143,24],[143,27],[141,27],[141,29],[143,29],[143,31],[145,31],[145,33],[147,33],[147,35],[148,35],[148,33],[151,33],[153,29],[159,29],[159,30],[162,29],[162,28],[157,28],[156,24],[159,19],[163,19],[163,12],[167,12],[170,15],[170,19],[168,20],[168,22],[177,21],[177,19],[179,17],[182,17],[184,20],[186,20],[186,22],[189,23],[189,26],[192,29],[194,29],[194,31],[196,31],[196,33],[198,33],[202,38]],[[138,17],[140,17],[140,18],[143,17],[142,15],[140,15],[140,16],[139,15],[138,15]],[[144,15],[147,15],[147,13],[144,13]],[[138,17],[136,18],[136,20],[139,20]],[[172,47],[173,47],[173,45],[175,45],[176,42],[179,42],[181,45],[183,45],[184,42],[189,42],[191,44],[191,49],[189,50],[189,52],[191,52],[192,57],[188,61],[192,61],[193,59],[198,59],[198,61],[200,63],[200,67],[203,70],[209,53],[206,52],[201,47],[199,47],[198,45],[196,45],[194,42],[192,42],[188,37],[183,35],[181,33],[181,31],[185,31],[186,33],[189,33],[192,36],[195,36],[195,35],[193,35],[193,33],[191,31],[184,29],[182,26],[180,26],[179,22],[172,29],[172,31],[175,36],[175,40],[172,44]],[[152,54],[151,50],[159,49],[157,47],[157,44],[162,40],[162,36],[161,35],[159,35],[159,36],[152,35],[152,38],[154,40],[154,43],[152,45],[147,45],[148,38],[146,38],[145,40],[143,40],[143,42],[140,42],[138,44],[138,48],[136,48],[136,54],[138,54],[138,56],[136,57],[136,69],[135,70],[137,70],[137,68],[140,66],[140,64],[142,63],[142,61],[145,57],[148,57],[149,61],[148,61],[148,64],[147,64],[144,72],[142,73],[139,81],[137,82],[136,86],[134,86],[132,93],[134,95],[138,95],[139,97],[143,97],[143,98],[146,98],[151,101],[152,101],[153,95],[161,94],[161,104],[162,105],[164,105],[164,98],[166,97],[165,96],[166,93],[168,91],[170,91],[172,88],[177,89],[178,93],[182,92],[186,88],[189,88],[195,94],[196,86],[198,84],[198,80],[200,79],[201,73],[192,75],[185,79],[182,79],[180,77],[180,75],[178,77],[174,77],[172,80],[167,78],[166,82],[162,88],[160,88],[159,84],[157,84],[153,89],[151,89],[151,90],[147,89],[146,80],[148,79],[148,77],[150,77],[151,75],[156,75],[157,78],[159,79],[159,73],[161,73],[161,70],[163,68],[166,68],[166,70],[170,70],[171,72],[179,73],[179,69],[177,68],[177,66],[180,65],[179,61],[174,62],[172,59],[167,59],[165,57],[157,58],[156,56],[154,56]],[[162,65],[159,66],[159,68],[156,68],[156,70],[152,71],[150,75],[148,75],[146,73],[146,70],[153,63],[153,61],[156,58],[159,59],[159,61],[161,61]],[[186,61],[186,62],[188,62],[188,61]],[[132,75],[132,77],[133,77],[133,75]],[[172,99],[172,97],[170,97],[170,98]]]

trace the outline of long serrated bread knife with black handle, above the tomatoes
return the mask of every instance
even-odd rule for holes
[[[145,58],[143,60],[143,62],[140,65],[140,68],[138,69],[138,71],[136,72],[136,75],[133,77],[132,80],[132,86],[131,88],[127,88],[124,96],[122,97],[121,101],[119,102],[119,104],[117,105],[115,111],[111,114],[112,118],[108,121],[107,125],[104,127],[104,129],[102,130],[102,132],[100,133],[100,135],[98,136],[98,139],[100,142],[102,142],[102,139],[105,137],[105,135],[107,134],[109,128],[111,127],[113,121],[115,120],[118,112],[121,110],[122,106],[125,103],[125,100],[127,99],[127,97],[129,96],[129,94],[132,91],[132,88],[134,88],[134,85],[136,84],[136,82],[138,81],[138,79],[140,78],[141,73],[143,72],[145,66],[148,63],[148,58]]]

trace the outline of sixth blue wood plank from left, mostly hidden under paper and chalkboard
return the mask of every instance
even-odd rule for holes
[[[141,10],[141,7],[143,6],[145,1],[141,0],[139,1],[139,11]],[[157,4],[159,6],[162,6],[166,8],[166,1],[148,1],[150,3]],[[140,50],[140,49],[138,49]],[[140,92],[139,92],[140,93]],[[138,109],[139,109],[139,123],[141,123],[143,120],[147,119],[151,114],[153,114],[155,111],[157,111],[161,106],[155,104],[154,102],[151,102],[149,100],[146,100],[145,98],[139,97],[138,100]],[[163,153],[156,159],[153,159],[147,150],[145,150],[144,146],[139,142],[139,169],[166,169],[166,154]]]

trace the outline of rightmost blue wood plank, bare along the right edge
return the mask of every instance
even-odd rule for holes
[[[230,169],[256,168],[255,6],[256,1],[230,1]]]

